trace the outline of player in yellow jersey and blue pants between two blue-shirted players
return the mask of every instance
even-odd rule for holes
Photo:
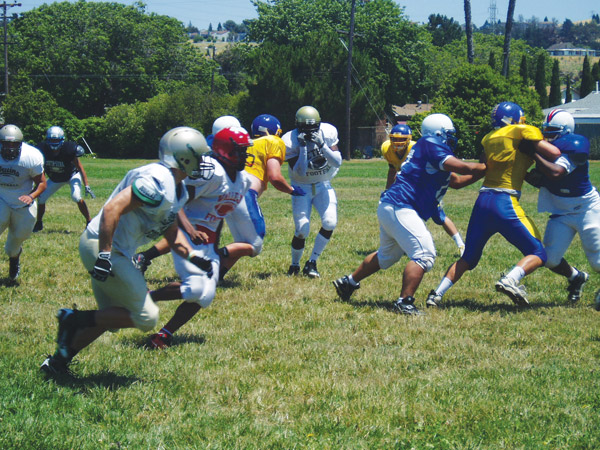
[[[427,297],[427,306],[436,307],[443,295],[481,258],[487,241],[500,233],[517,247],[523,258],[508,274],[496,282],[496,290],[506,294],[518,306],[528,305],[525,288],[519,282],[546,262],[546,251],[533,221],[519,204],[521,187],[533,155],[555,160],[560,151],[544,141],[538,128],[525,125],[523,109],[512,102],[502,102],[492,110],[494,129],[482,140],[487,171],[473,207],[467,241],[462,257],[452,264],[437,289]]]

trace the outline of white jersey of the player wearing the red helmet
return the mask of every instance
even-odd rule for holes
[[[192,225],[217,231],[223,218],[242,201],[251,181],[245,171],[238,172],[235,181],[232,181],[221,163],[214,158],[211,162],[215,165],[215,173],[210,180],[186,181],[188,186],[195,188],[195,192],[184,211]]]

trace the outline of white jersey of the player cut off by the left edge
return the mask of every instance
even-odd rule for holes
[[[44,171],[44,157],[35,147],[23,142],[21,154],[12,161],[0,157],[0,198],[11,208],[27,205],[19,197],[33,192],[33,178]]]

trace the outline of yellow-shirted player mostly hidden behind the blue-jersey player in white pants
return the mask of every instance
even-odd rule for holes
[[[408,125],[404,124],[394,125],[390,131],[390,138],[381,144],[381,153],[389,166],[385,184],[386,189],[389,189],[394,182],[396,173],[400,171],[400,167],[413,145],[415,145],[415,141],[412,140],[412,130]],[[444,231],[452,238],[462,256],[465,250],[465,243],[454,222],[452,222],[450,217],[446,216],[441,201],[438,204],[437,211],[431,216],[431,220],[436,225],[444,228]]]

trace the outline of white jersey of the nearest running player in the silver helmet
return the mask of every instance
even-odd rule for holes
[[[129,186],[143,206],[121,216],[113,235],[113,250],[132,257],[139,247],[164,234],[177,219],[177,213],[185,205],[188,195],[184,183],[175,184],[168,167],[152,163],[127,172],[107,203]],[[99,235],[103,210],[88,225],[88,230],[95,237]]]

